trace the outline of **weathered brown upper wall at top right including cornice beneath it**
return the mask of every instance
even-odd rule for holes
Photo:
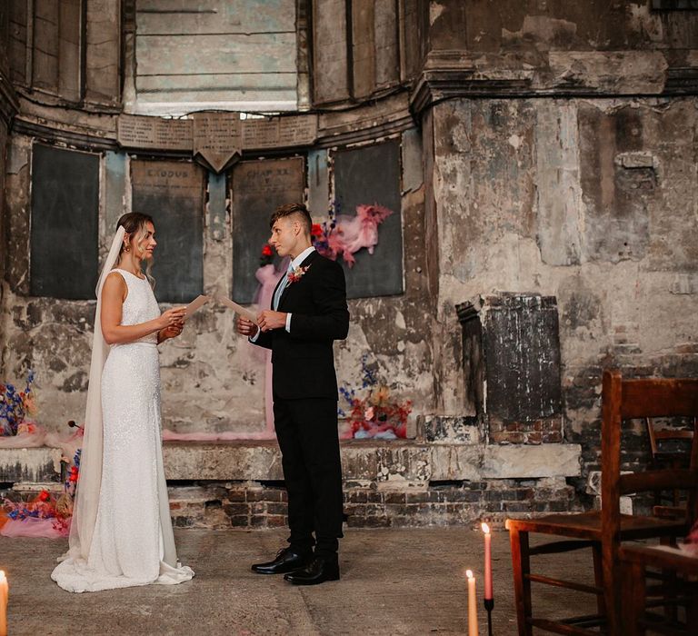
[[[695,11],[593,0],[431,3],[411,104],[457,95],[695,94]]]

